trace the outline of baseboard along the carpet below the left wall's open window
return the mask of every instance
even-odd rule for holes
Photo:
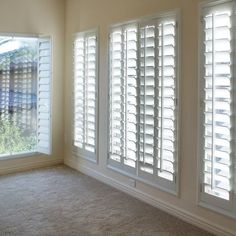
[[[11,165],[10,167],[0,168],[0,175],[12,174],[16,172],[22,172],[42,167],[49,167],[63,164],[63,159],[54,159],[54,160],[38,160],[24,163],[17,163],[17,165]]]

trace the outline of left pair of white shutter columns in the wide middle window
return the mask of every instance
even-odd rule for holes
[[[137,26],[110,34],[110,162],[135,173],[137,160]]]

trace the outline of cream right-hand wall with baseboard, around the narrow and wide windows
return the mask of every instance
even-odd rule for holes
[[[201,227],[219,235],[236,235],[235,220],[197,206],[197,86],[198,86],[198,5],[201,0],[66,0],[66,67],[65,67],[65,163],[97,178],[116,184],[154,205],[179,217],[192,219]],[[128,178],[106,168],[107,157],[107,91],[108,27],[110,24],[171,9],[181,10],[181,180],[180,197],[148,185],[137,183],[133,191]],[[99,27],[99,164],[72,157],[72,35]],[[143,197],[144,196],[144,197]],[[227,233],[228,232],[228,233]]]

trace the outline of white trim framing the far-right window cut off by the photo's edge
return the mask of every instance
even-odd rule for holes
[[[203,27],[202,27],[202,14],[207,12],[207,8],[210,9],[217,9],[222,8],[222,5],[229,6],[230,4],[235,4],[234,0],[216,0],[216,1],[205,1],[199,4],[198,9],[198,144],[197,144],[197,198],[196,204],[200,207],[210,209],[217,213],[223,214],[230,218],[236,219],[236,193],[230,195],[229,201],[217,198],[215,196],[211,196],[210,194],[204,193],[203,188],[203,139],[202,139],[202,132],[203,132],[203,109],[202,109],[202,98],[203,98],[203,67],[204,67],[204,59],[203,59],[203,52],[204,52],[204,45],[203,45]],[[236,14],[236,5],[233,7],[233,11]],[[235,29],[236,24],[233,26]],[[234,32],[234,31],[233,31]],[[233,47],[236,50],[236,33],[234,32],[234,44]],[[235,63],[235,62],[234,62]],[[234,76],[235,76],[235,69],[234,69]],[[235,79],[235,78],[234,78]],[[233,97],[235,97],[234,95]],[[236,124],[234,124],[236,125]],[[236,166],[236,160],[234,161],[233,166]],[[232,168],[233,169],[233,168]],[[234,175],[236,173],[234,172]],[[234,195],[234,196],[232,196]]]

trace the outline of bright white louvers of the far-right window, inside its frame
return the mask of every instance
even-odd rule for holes
[[[230,11],[204,17],[204,192],[231,191],[232,29]]]

